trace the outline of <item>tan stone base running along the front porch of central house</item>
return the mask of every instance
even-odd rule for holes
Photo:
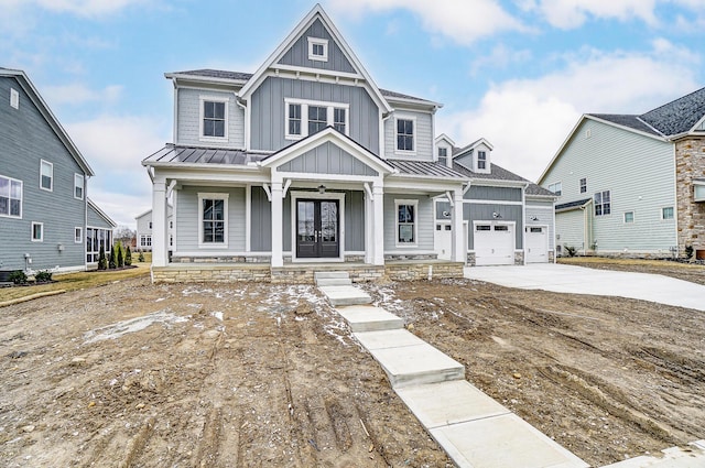
[[[170,263],[152,266],[155,283],[270,282],[314,284],[314,273],[345,271],[354,283],[369,281],[416,281],[438,277],[463,277],[463,262],[446,260],[391,260],[383,265],[367,263]]]

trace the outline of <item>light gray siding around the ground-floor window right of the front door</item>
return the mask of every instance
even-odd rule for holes
[[[419,200],[417,209],[417,247],[397,247],[397,211],[394,200]],[[433,200],[423,195],[384,194],[384,251],[430,251],[434,249]]]

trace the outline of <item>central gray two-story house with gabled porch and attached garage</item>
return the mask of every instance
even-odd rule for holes
[[[379,88],[321,6],[254,74],[165,76],[174,143],[142,163],[156,281],[292,280],[312,264],[345,264],[357,280],[460,276],[466,262],[523,263],[528,197],[541,213],[536,258],[552,257],[553,194],[492,164],[485,140],[434,138],[442,106]]]

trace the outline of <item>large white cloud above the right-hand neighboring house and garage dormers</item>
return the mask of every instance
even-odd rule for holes
[[[438,112],[436,127],[460,145],[485,137],[495,162],[535,181],[581,115],[642,113],[697,89],[699,56],[677,51],[690,58],[662,41],[642,54],[582,51],[555,73],[494,85],[476,109]]]

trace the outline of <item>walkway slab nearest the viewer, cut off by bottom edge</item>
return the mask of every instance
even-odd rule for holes
[[[462,468],[589,466],[514,414],[442,426],[430,432]]]

